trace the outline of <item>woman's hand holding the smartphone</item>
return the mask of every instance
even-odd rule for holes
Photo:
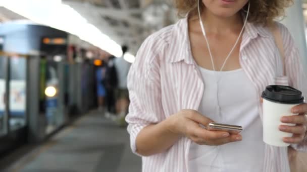
[[[222,145],[242,140],[239,134],[209,131],[200,127],[199,124],[207,126],[213,121],[194,110],[182,110],[168,118],[168,122],[171,132],[184,135],[199,145]]]

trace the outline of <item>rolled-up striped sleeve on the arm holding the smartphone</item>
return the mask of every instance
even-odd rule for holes
[[[156,40],[154,36],[147,38],[128,73],[130,105],[126,121],[130,134],[130,146],[135,154],[137,154],[138,133],[144,127],[165,119],[160,82],[160,56],[163,46],[163,41]]]

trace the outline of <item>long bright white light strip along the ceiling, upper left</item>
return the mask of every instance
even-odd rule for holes
[[[1,3],[5,8],[36,23],[76,35],[80,39],[114,56],[123,55],[119,44],[88,23],[72,7],[62,4],[61,0],[3,0]]]

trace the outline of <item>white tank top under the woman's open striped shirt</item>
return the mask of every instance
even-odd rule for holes
[[[192,143],[189,171],[263,171],[265,144],[254,85],[243,69],[217,72],[217,82],[215,71],[199,68],[204,93],[198,111],[218,123],[242,126],[243,140],[221,146]]]

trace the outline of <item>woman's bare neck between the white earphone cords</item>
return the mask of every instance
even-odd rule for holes
[[[229,32],[240,32],[243,27],[243,20],[239,13],[231,17],[220,17],[204,9],[201,20],[207,33],[221,34]]]

